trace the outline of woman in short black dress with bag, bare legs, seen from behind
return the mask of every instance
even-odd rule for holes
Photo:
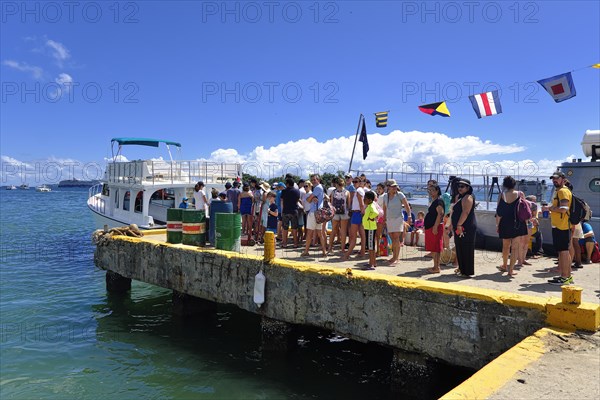
[[[512,176],[507,176],[502,181],[504,191],[498,198],[496,207],[496,230],[502,239],[502,266],[501,272],[508,272],[509,277],[516,275],[514,267],[521,254],[521,236],[527,235],[527,224],[517,218],[517,199],[520,192],[515,190],[517,182]],[[510,264],[508,254],[510,253]],[[507,265],[508,264],[508,265]]]

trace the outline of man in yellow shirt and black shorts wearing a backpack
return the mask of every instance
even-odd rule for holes
[[[555,188],[555,195],[551,206],[544,206],[544,211],[550,211],[552,224],[552,243],[558,252],[558,272],[560,276],[548,281],[552,285],[570,285],[573,282],[571,275],[571,256],[569,244],[571,243],[571,226],[569,223],[569,208],[571,206],[571,191],[565,186],[565,174],[555,172],[550,179]]]

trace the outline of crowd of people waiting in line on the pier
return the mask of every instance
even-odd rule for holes
[[[542,237],[538,229],[540,212],[550,214],[554,248],[559,254],[555,271],[560,275],[549,283],[572,283],[572,269],[580,268],[583,262],[591,262],[595,248],[591,226],[587,221],[576,226],[568,223],[564,214],[571,202],[569,182],[561,172],[551,179],[556,187],[555,198],[552,205],[542,203],[541,210],[535,196],[525,197],[523,192],[516,190],[514,178],[507,176],[502,182],[503,191],[496,209],[496,227],[502,239],[502,265],[497,268],[509,277],[517,274],[516,269],[531,265],[527,257],[538,258],[542,254]],[[372,188],[364,174],[346,174],[328,182],[327,189],[323,185],[319,174],[298,181],[288,175],[285,182],[273,186],[251,179],[247,183],[227,182],[224,191],[213,189],[211,197],[207,198],[204,183],[200,181],[194,188],[194,204],[196,208],[205,209],[208,215],[212,201],[229,201],[233,212],[242,216],[242,234],[261,243],[265,232],[273,232],[281,248],[302,248],[302,256],[308,256],[314,246],[323,257],[335,253],[343,261],[351,257],[368,257],[368,263],[363,267],[373,270],[377,267],[377,258],[387,256],[388,249],[390,255],[384,265],[392,266],[399,262],[402,246],[416,246],[423,237],[428,252],[426,257],[433,261],[426,273],[440,273],[441,265],[449,264],[455,267],[454,273],[460,277],[475,274],[477,221],[475,196],[468,179],[454,179],[449,185],[450,193],[442,192],[435,180],[428,181],[429,207],[426,213],[419,212],[416,216],[394,179]],[[526,202],[531,211],[527,220],[518,217],[517,207],[521,201]],[[180,207],[188,207],[187,198]],[[331,221],[329,231],[319,215],[324,208],[330,210],[326,220]],[[454,246],[451,245],[452,238]],[[582,261],[582,252],[585,261]],[[442,260],[444,253],[450,254],[446,260]]]

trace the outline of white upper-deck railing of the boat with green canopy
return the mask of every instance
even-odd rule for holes
[[[222,183],[241,176],[241,164],[209,161],[137,160],[109,163],[106,180],[109,183],[177,184]]]

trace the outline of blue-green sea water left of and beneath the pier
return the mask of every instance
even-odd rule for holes
[[[293,350],[267,356],[259,318],[236,307],[184,319],[169,290],[108,295],[86,198],[0,191],[0,398],[406,398],[389,391],[389,349],[302,328]],[[467,376],[452,369],[429,397]]]

